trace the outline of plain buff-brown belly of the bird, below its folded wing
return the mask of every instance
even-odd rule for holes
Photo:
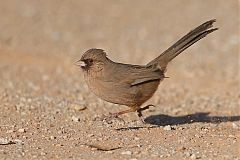
[[[160,81],[151,81],[136,86],[117,82],[88,80],[88,87],[99,98],[130,107],[140,106],[152,97]]]

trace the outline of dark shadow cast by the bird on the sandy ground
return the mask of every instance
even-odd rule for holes
[[[145,123],[154,125],[152,127],[127,127],[127,128],[118,128],[117,130],[136,130],[140,128],[156,128],[166,125],[182,125],[182,124],[191,124],[196,122],[203,123],[215,123],[219,124],[222,122],[234,122],[239,121],[240,116],[210,116],[210,112],[199,112],[194,114],[188,114],[183,116],[169,116],[164,114],[151,115],[145,118]]]

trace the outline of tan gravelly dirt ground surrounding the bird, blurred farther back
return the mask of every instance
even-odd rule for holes
[[[89,48],[145,64],[216,18],[135,113],[94,96],[74,65]],[[240,160],[239,1],[0,0],[0,159]]]

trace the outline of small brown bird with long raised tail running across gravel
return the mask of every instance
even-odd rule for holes
[[[110,118],[137,111],[142,121],[142,111],[149,108],[141,105],[151,98],[159,83],[166,78],[164,73],[168,63],[185,49],[218,28],[212,28],[216,20],[210,20],[190,31],[169,47],[160,56],[146,65],[117,63],[110,60],[104,50],[89,49],[80,60],[85,81],[90,90],[101,99],[130,107]]]

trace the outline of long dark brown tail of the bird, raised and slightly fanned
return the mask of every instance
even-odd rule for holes
[[[160,56],[149,62],[147,66],[158,64],[161,67],[161,70],[165,71],[167,64],[177,55],[179,55],[182,51],[184,51],[209,33],[216,31],[218,28],[212,28],[214,22],[216,22],[215,19],[207,21],[195,28],[194,30],[190,31],[188,34],[178,40],[175,44],[169,47],[166,51],[164,51]]]

